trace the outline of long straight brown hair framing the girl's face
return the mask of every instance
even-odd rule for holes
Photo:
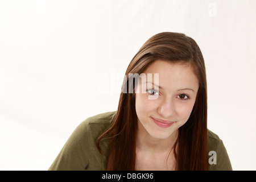
[[[186,63],[192,66],[199,80],[195,105],[188,121],[179,128],[174,146],[177,170],[208,170],[207,160],[207,80],[204,58],[192,38],[180,33],[162,32],[143,44],[131,60],[123,82],[113,125],[97,139],[110,138],[107,170],[135,170],[137,114],[134,85],[129,85],[129,73],[141,74],[155,60]],[[125,88],[125,89],[123,89]],[[125,91],[125,92],[124,92]]]

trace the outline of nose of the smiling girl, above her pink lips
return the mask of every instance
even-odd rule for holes
[[[172,115],[174,115],[174,112],[174,101],[171,98],[164,99],[158,108],[158,113],[164,118],[170,118]]]

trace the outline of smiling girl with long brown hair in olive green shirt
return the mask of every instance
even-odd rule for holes
[[[82,122],[49,170],[232,170],[222,140],[207,129],[195,40],[173,32],[148,39],[127,68],[117,111]]]

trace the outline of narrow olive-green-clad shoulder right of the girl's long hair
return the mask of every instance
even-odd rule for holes
[[[208,152],[210,170],[232,170],[228,152],[226,151],[223,141],[220,139],[220,137],[218,137],[217,134],[210,130],[208,130]]]

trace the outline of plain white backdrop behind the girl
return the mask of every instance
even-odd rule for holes
[[[255,170],[255,18],[254,0],[0,0],[0,170],[47,170],[79,123],[117,109],[128,64],[163,31],[199,44],[208,128],[234,170]]]

